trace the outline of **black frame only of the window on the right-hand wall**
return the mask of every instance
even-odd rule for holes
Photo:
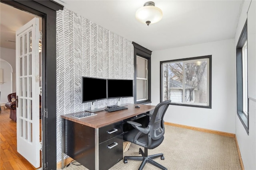
[[[249,135],[249,100],[247,115],[243,111],[243,68],[242,68],[242,48],[247,40],[247,20],[236,45],[236,109],[237,115]],[[248,43],[248,42],[247,42]],[[248,46],[248,44],[247,44]],[[248,72],[248,70],[247,70]],[[248,87],[247,87],[248,88]]]

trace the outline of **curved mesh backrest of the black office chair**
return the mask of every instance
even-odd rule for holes
[[[164,135],[164,114],[170,103],[171,100],[160,102],[154,109],[148,124],[150,135],[153,140],[160,139]]]

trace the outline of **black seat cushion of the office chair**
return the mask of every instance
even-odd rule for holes
[[[127,133],[124,133],[124,140],[129,141],[131,143],[135,143],[134,138],[139,132],[140,132],[139,130],[133,129],[131,131],[128,131]],[[138,141],[143,143],[144,145],[147,145],[148,147],[146,148],[148,149],[154,149],[158,147],[163,140],[164,140],[164,136],[162,136],[160,139],[157,139],[157,140],[152,139],[151,146],[148,146],[148,134],[142,133],[138,138]],[[139,143],[135,143],[135,144],[140,145]],[[140,146],[145,147],[144,145],[140,145]]]

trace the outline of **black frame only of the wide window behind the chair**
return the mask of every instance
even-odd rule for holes
[[[197,59],[209,59],[209,106],[202,105],[192,105],[184,103],[171,103],[171,105],[176,106],[189,106],[189,107],[200,107],[200,108],[212,108],[212,55],[200,56],[200,57],[190,57],[184,59],[174,59],[168,61],[160,61],[160,102],[162,102],[162,64],[176,61],[188,61],[188,60],[197,60]],[[194,96],[193,96],[194,97]]]

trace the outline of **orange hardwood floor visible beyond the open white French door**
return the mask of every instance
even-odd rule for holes
[[[0,113],[0,170],[36,170],[17,152],[16,122],[12,121],[10,110],[2,106]]]

